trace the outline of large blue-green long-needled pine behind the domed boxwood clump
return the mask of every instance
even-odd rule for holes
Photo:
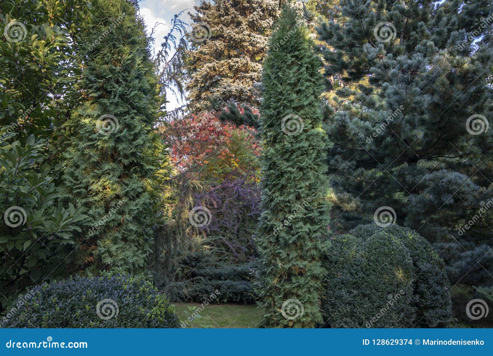
[[[457,254],[491,243],[491,214],[459,230],[492,194],[491,1],[325,6],[333,225],[349,229],[390,207],[394,223]]]

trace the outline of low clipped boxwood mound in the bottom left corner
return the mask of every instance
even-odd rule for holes
[[[43,284],[5,327],[179,327],[174,306],[130,275],[72,277]]]

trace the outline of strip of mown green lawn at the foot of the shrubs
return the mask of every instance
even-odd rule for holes
[[[209,304],[204,306],[197,318],[188,322],[188,307],[201,306],[199,303],[175,303],[176,316],[180,322],[188,323],[187,327],[214,327],[214,328],[239,328],[256,327],[260,321],[263,311],[256,305],[245,304]],[[181,324],[181,323],[180,323]]]

